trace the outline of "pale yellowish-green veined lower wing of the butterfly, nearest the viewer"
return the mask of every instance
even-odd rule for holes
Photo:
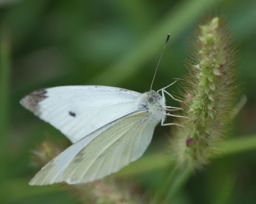
[[[48,162],[29,184],[87,183],[117,172],[142,156],[155,126],[144,109],[112,121]]]

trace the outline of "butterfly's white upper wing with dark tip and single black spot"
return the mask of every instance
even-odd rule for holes
[[[141,93],[110,86],[58,86],[23,97],[21,105],[49,122],[72,143],[138,108]]]

